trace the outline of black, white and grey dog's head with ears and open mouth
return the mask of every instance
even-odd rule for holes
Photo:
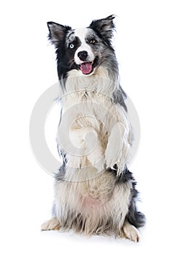
[[[49,39],[55,45],[58,59],[59,79],[67,72],[78,70],[82,75],[91,75],[115,55],[111,46],[113,15],[93,20],[85,29],[72,29],[58,23],[48,22]]]

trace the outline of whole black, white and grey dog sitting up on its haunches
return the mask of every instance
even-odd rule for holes
[[[74,230],[139,241],[145,217],[128,170],[133,132],[119,83],[114,15],[85,29],[48,22],[59,79],[58,152],[53,217],[42,230]]]

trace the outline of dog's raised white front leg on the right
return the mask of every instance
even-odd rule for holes
[[[128,162],[128,152],[130,143],[128,142],[129,129],[121,122],[117,122],[112,127],[109,135],[107,149],[105,151],[105,161],[107,168],[117,165],[117,175],[123,172]]]

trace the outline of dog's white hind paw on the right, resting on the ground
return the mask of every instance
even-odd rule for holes
[[[130,239],[131,241],[134,241],[134,242],[139,242],[140,233],[136,229],[136,227],[134,227],[133,225],[131,225],[128,222],[125,222],[124,225],[123,225],[122,237],[128,238],[128,239]]]

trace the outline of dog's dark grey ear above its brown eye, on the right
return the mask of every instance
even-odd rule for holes
[[[115,28],[112,21],[114,18],[114,15],[110,15],[109,17],[101,20],[93,20],[92,23],[90,23],[89,28],[100,33],[104,39],[111,39],[112,31]]]

